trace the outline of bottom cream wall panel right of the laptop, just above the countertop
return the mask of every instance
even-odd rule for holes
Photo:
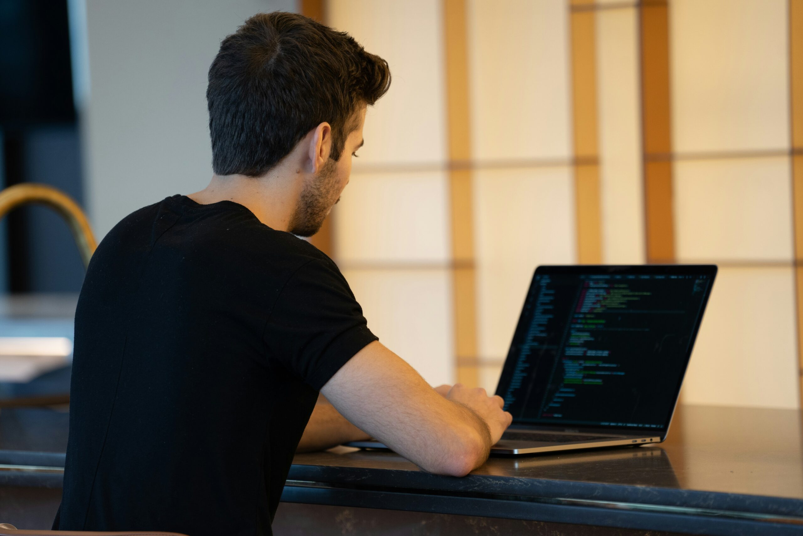
[[[793,268],[720,268],[683,402],[797,408]]]

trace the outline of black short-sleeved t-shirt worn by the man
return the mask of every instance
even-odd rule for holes
[[[81,288],[54,528],[271,534],[318,391],[376,339],[332,260],[246,207],[134,212]]]

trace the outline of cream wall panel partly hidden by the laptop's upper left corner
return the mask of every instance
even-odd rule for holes
[[[504,358],[538,264],[576,262],[569,166],[475,172],[480,358]]]

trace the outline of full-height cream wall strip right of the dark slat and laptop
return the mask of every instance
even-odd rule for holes
[[[677,257],[721,265],[684,401],[797,407],[788,2],[670,13]]]

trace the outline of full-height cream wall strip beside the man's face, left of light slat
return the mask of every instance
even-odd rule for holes
[[[454,381],[440,2],[328,3],[328,23],[391,65],[334,214],[336,260],[386,346]]]

